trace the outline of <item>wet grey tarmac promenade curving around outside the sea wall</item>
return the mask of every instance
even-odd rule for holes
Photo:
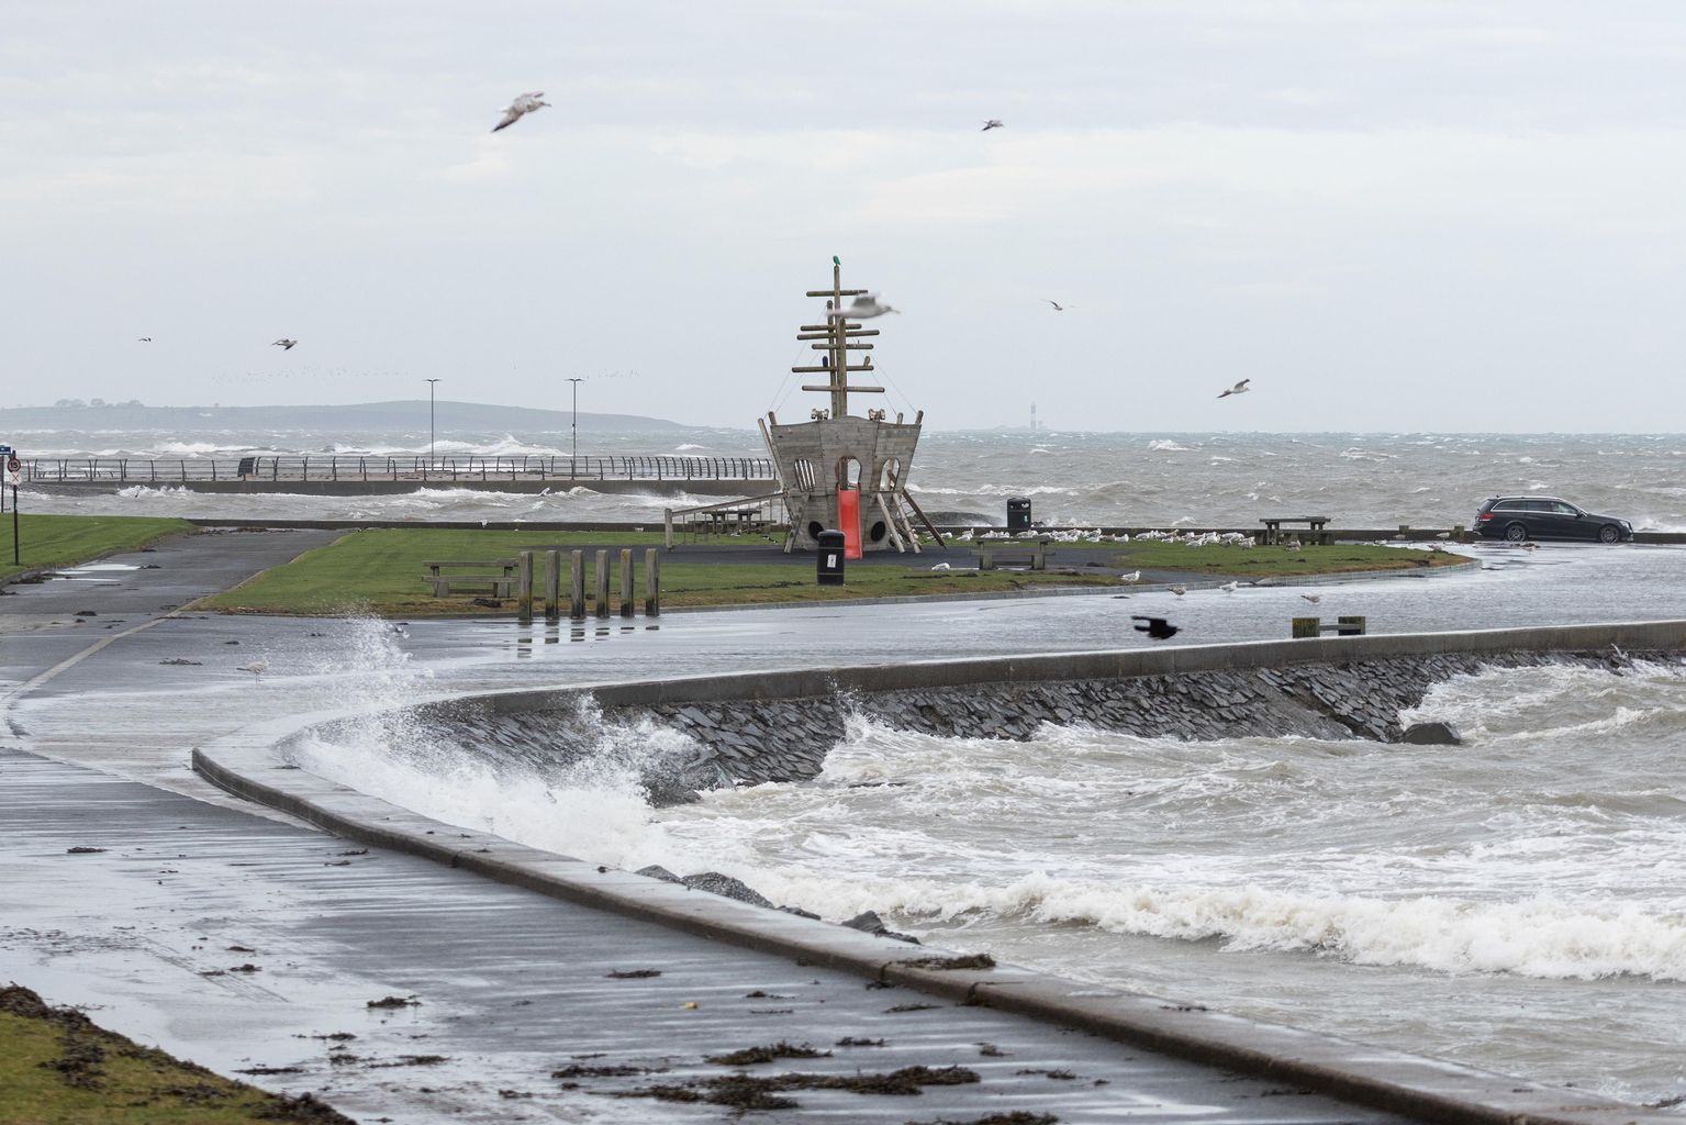
[[[418,860],[336,857],[332,838],[275,823],[277,815],[258,813],[189,771],[194,746],[251,722],[545,683],[1153,644],[1130,629],[1128,617],[1145,612],[1179,624],[1184,632],[1177,643],[1283,638],[1290,617],[1312,614],[1364,614],[1372,632],[1686,617],[1686,550],[1666,546],[1538,552],[1482,546],[1469,553],[1484,567],[1463,573],[1243,587],[1234,594],[1190,587],[1185,597],[1121,590],[1020,600],[718,611],[604,626],[164,616],[197,594],[224,589],[332,535],[228,535],[192,546],[160,545],[157,552],[108,560],[113,568],[8,587],[17,594],[0,600],[5,703],[0,747],[67,764],[15,752],[0,759],[5,772],[0,799],[7,805],[0,838],[13,864],[0,885],[5,907],[0,973],[54,1002],[108,1005],[105,1015],[94,1012],[96,1019],[217,1069],[309,1063],[297,1073],[248,1078],[288,1093],[325,1088],[366,1120],[378,1120],[381,1106],[388,1106],[393,1120],[521,1120],[518,1113],[531,1113],[526,1120],[722,1120],[725,1110],[718,1106],[604,1098],[593,1093],[599,1079],[570,1079],[580,1081],[580,1090],[556,1090],[548,1074],[566,1068],[573,1054],[605,1051],[615,1064],[669,1059],[664,1064],[678,1068],[674,1073],[698,1076],[718,1073],[698,1061],[705,1051],[781,1037],[830,1049],[845,1034],[882,1036],[917,1047],[895,1056],[902,1059],[897,1066],[917,1059],[980,1069],[980,1061],[996,1063],[991,1056],[980,1059],[971,1041],[1000,1042],[1005,1032],[991,1025],[959,1034],[946,1009],[892,1019],[883,1012],[892,1004],[878,1004],[878,993],[867,1005],[845,1005],[845,993],[862,988],[853,978],[824,985],[835,992],[813,992],[813,985],[801,990],[797,985],[826,978],[808,970],[792,975],[789,965],[745,963],[728,972],[722,968],[725,960],[750,955],[728,955],[720,946],[661,931],[644,933],[590,912],[583,919],[565,918],[566,909],[555,902],[526,902],[529,896],[521,892]],[[148,563],[158,570],[142,568]],[[1305,594],[1318,602],[1303,600]],[[94,616],[78,617],[78,611]],[[265,665],[261,673],[241,670],[253,661]],[[155,788],[132,786],[123,778]],[[172,850],[172,838],[196,845]],[[78,843],[108,852],[67,857],[64,848]],[[325,865],[341,859],[351,864]],[[81,865],[67,867],[71,862]],[[228,951],[233,945],[261,953],[234,955]],[[597,956],[592,950],[612,955]],[[607,978],[597,977],[597,968],[626,968],[631,960],[659,965],[663,977],[614,982],[614,988],[599,983]],[[231,975],[233,966],[246,961],[263,968]],[[223,975],[202,977],[202,972]],[[723,977],[715,980],[710,973]],[[627,985],[644,992],[634,993]],[[750,1012],[749,1004],[760,1009],[762,1002],[750,1002],[745,993],[757,988],[789,993],[792,1000],[777,1000],[769,1009],[792,1012]],[[366,1000],[396,992],[415,992],[423,1005],[388,1015],[388,1024],[361,1009]],[[629,995],[641,1002],[624,1004]],[[566,1002],[541,1005],[546,997]],[[533,1004],[518,1004],[523,999]],[[700,1007],[669,1007],[688,1000]],[[840,1010],[851,1012],[867,1031],[853,1031],[855,1024],[845,1029],[836,1019]],[[698,1012],[706,1015],[695,1019]],[[895,1029],[895,1036],[885,1027]],[[985,1086],[1008,1090],[1015,1098],[1047,1095],[1057,1086],[1064,1091],[1059,1108],[1052,1101],[1013,1105],[1055,1112],[1072,1122],[1113,1120],[1126,1112],[1153,1117],[1153,1105],[1163,1117],[1330,1120],[1303,1098],[1271,1098],[1253,1106],[1214,1095],[1234,1090],[1226,1079],[1207,1079],[1199,1093],[1175,1085],[1192,1079],[1153,1078],[1152,1083],[1170,1085],[1141,1085],[1148,1079],[1131,1076],[1123,1059],[1130,1052],[1104,1044],[1079,1049],[1076,1037],[1027,1027],[1022,1032],[1027,1044],[1035,1041],[1032,1032],[1055,1039],[1023,1046],[1000,1086],[991,1079],[980,1086],[934,1088],[941,1095],[927,1090],[917,1105],[897,1105],[882,1117],[862,1106],[883,1098],[846,1091],[791,1096],[804,1106],[833,1112],[836,1120],[936,1120],[961,1113],[961,1106],[966,1120],[983,1112],[976,1106],[988,1100],[973,1095]],[[352,1044],[349,1054],[362,1056],[374,1046],[386,1061],[408,1052],[447,1054],[452,1063],[393,1069],[334,1064],[324,1046],[332,1041],[293,1039],[339,1031],[368,1037],[368,1044],[344,1041]],[[405,1039],[410,1034],[430,1039]],[[838,1051],[826,1066],[846,1054]],[[846,1061],[856,1063],[851,1056]],[[1106,1078],[1108,1086],[1084,1093],[1084,1098],[1104,1095],[1106,1108],[1099,1101],[1072,1101],[1074,1079],[1017,1074],[1060,1066],[1091,1083]],[[808,1069],[808,1063],[792,1061],[786,1069]],[[395,1081],[395,1074],[401,1078]],[[445,1093],[408,1100],[422,1086],[433,1090],[435,1081]],[[410,1091],[401,1106],[396,1088]],[[501,1088],[516,1095],[543,1091],[545,1098],[506,1098]],[[959,1100],[948,1101],[951,1096]],[[1207,1108],[1187,1105],[1202,1100]],[[1254,1108],[1266,1106],[1270,1113],[1253,1117]],[[757,1120],[784,1120],[784,1113]]]

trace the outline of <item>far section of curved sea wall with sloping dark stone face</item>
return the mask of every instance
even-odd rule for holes
[[[427,720],[464,752],[541,772],[590,759],[605,742],[663,744],[639,769],[651,799],[666,805],[696,789],[814,778],[850,717],[937,737],[1030,739],[1044,724],[1084,724],[1187,740],[1401,742],[1399,713],[1457,675],[1548,663],[1620,670],[1681,651],[1686,622],[1266,641],[514,692],[440,705]]]

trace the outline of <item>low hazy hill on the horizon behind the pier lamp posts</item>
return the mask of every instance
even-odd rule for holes
[[[442,427],[454,430],[566,430],[573,412],[536,406],[492,406],[440,400],[435,413]],[[378,430],[395,425],[425,427],[425,398],[347,406],[142,406],[140,403],[101,403],[64,406],[12,406],[0,410],[0,428],[40,430]],[[593,433],[685,430],[678,422],[627,413],[580,412],[580,428]]]

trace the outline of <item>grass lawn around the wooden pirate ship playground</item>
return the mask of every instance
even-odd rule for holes
[[[351,533],[339,541],[266,570],[234,590],[199,602],[204,609],[253,614],[346,614],[420,617],[475,612],[474,592],[433,597],[427,563],[440,560],[513,558],[524,548],[582,548],[587,558],[587,599],[597,585],[593,548],[636,550],[637,590],[642,599],[644,546],[658,546],[656,533],[555,533],[464,531],[432,528],[379,528]],[[710,548],[732,550],[710,553]],[[776,543],[745,546],[744,540],[693,543],[661,555],[663,606],[745,606],[774,602],[824,602],[862,597],[1012,592],[1027,587],[1116,587],[1120,572],[1148,570],[1187,577],[1286,579],[1313,573],[1396,570],[1457,562],[1455,555],[1386,546],[1286,548],[1184,546],[1179,543],[1060,543],[1047,572],[971,570],[951,558],[948,570],[931,570],[931,557],[905,557],[909,565],[850,563],[846,585],[816,585],[813,555],[787,557]],[[612,600],[619,602],[619,557],[610,555]],[[543,563],[534,579],[543,597]],[[484,592],[482,592],[484,594]],[[563,594],[566,597],[566,592]],[[513,600],[502,607],[513,612]],[[481,609],[486,612],[486,609]]]

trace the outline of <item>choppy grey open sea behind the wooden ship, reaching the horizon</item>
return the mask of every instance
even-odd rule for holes
[[[32,455],[223,457],[243,454],[425,454],[427,435],[251,432],[172,439],[47,432],[13,439]],[[750,430],[582,439],[583,454],[760,455]],[[470,433],[438,454],[566,455],[565,435]],[[944,433],[927,432],[910,472],[919,504],[944,523],[1005,523],[1023,496],[1047,525],[1253,526],[1261,514],[1329,514],[1335,526],[1469,523],[1499,493],[1565,496],[1635,528],[1686,531],[1686,435],[1489,433]],[[324,519],[658,519],[666,506],[718,498],[546,496],[438,487],[406,496],[206,496],[132,487],[116,496],[25,493],[35,511]],[[29,508],[25,508],[29,509]]]

